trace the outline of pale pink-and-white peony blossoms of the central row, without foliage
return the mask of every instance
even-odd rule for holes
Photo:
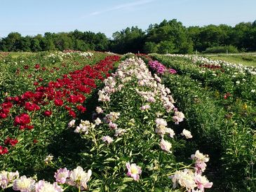
[[[155,103],[159,102],[166,113],[173,114],[173,121],[175,124],[179,124],[184,119],[182,112],[177,111],[177,108],[173,105],[174,100],[173,97],[169,95],[170,90],[161,84],[161,78],[156,74],[154,77],[151,76],[147,65],[143,60],[140,60],[137,57],[121,62],[116,73],[105,79],[104,82],[105,88],[98,92],[99,101],[104,103],[103,106],[108,106],[107,103],[112,101],[111,98],[115,92],[121,92],[132,88],[136,90],[137,96],[141,97],[146,103],[140,107],[141,111],[150,110]],[[100,107],[97,107],[96,111],[97,114],[103,113],[103,110]],[[119,125],[116,122],[119,119],[119,116],[119,112],[112,111],[111,113],[106,114],[105,118],[103,118],[103,122],[108,124],[109,129],[114,130],[115,137],[126,134],[126,130],[119,128]],[[155,132],[161,137],[159,146],[163,151],[171,153],[172,144],[168,142],[167,139],[164,139],[164,135],[168,134],[169,137],[174,138],[175,132],[173,129],[168,128],[168,123],[164,118],[160,118],[161,116],[164,116],[164,114],[156,113],[155,116]],[[74,125],[73,123],[74,121],[70,123],[70,125]],[[88,133],[90,134],[90,129],[95,128],[95,126],[100,123],[102,123],[102,121],[98,118],[96,118],[94,124],[81,121],[74,131],[87,135]],[[187,139],[192,138],[189,130],[184,129],[181,135]],[[109,135],[105,135],[101,139],[107,144],[114,142],[114,139]],[[196,151],[191,158],[195,163],[194,170],[182,170],[172,174],[170,178],[173,180],[173,188],[175,188],[177,184],[182,188],[186,188],[187,191],[194,190],[194,188],[198,188],[198,191],[204,191],[204,188],[210,188],[213,183],[210,183],[205,176],[202,176],[202,173],[206,170],[206,162],[209,160],[208,156],[204,156],[199,151]],[[140,174],[142,173],[141,167],[137,166],[135,163],[132,165],[127,163],[126,167],[128,168],[128,176],[133,177],[134,180],[140,179]],[[180,174],[182,172],[184,174]],[[191,177],[191,173],[193,173],[193,177]]]

